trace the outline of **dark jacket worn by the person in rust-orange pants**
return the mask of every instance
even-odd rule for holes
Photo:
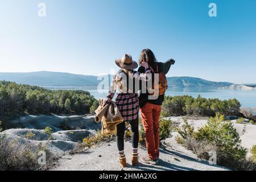
[[[165,75],[171,68],[171,60],[166,61],[165,63],[157,63],[159,72],[163,72]],[[154,71],[156,71],[156,65],[150,65]],[[139,67],[138,72],[144,73],[144,67]],[[164,94],[159,96],[156,100],[148,100],[148,93],[141,93],[139,95],[139,107],[143,107],[146,102],[150,102],[155,105],[162,105],[164,101]]]

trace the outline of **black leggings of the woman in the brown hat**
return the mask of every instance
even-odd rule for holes
[[[139,118],[129,121],[131,125],[131,144],[133,148],[138,148],[139,143]],[[117,125],[117,148],[118,151],[124,150],[123,137],[125,136],[125,122]]]

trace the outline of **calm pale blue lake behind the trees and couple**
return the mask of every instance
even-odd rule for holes
[[[100,90],[98,92],[97,87],[88,86],[44,86],[48,89],[67,89],[67,90],[86,90],[92,94],[96,99],[105,98],[108,90]],[[166,96],[180,96],[188,95],[197,97],[198,95],[205,98],[219,98],[220,100],[229,100],[230,98],[236,98],[240,101],[242,107],[256,108],[256,90],[228,90],[228,89],[216,89],[207,87],[169,87],[166,92]]]

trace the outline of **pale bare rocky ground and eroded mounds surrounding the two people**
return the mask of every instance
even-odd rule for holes
[[[170,117],[176,125],[181,126],[181,117]],[[188,118],[188,122],[198,129],[207,123],[208,118]],[[236,123],[231,121],[241,137],[241,144],[248,149],[256,144],[256,125],[250,123]],[[37,115],[24,116],[10,121],[17,129],[5,130],[1,135],[5,135],[10,141],[32,143],[35,147],[40,143],[46,144],[49,151],[56,156],[60,156],[57,166],[52,170],[120,170],[118,164],[118,152],[115,142],[102,143],[101,145],[88,148],[81,154],[70,155],[69,151],[77,146],[83,138],[95,135],[100,129],[101,123],[94,122],[93,116],[57,116],[57,115]],[[52,127],[52,135],[44,133],[46,126]],[[63,130],[63,127],[72,130]],[[177,133],[172,133],[173,137],[164,141],[165,147],[160,148],[160,163],[158,166],[139,164],[137,167],[131,166],[131,143],[125,143],[127,156],[127,168],[123,170],[226,170],[220,166],[210,165],[208,162],[197,159],[191,151],[180,146],[175,141]],[[49,139],[49,137],[51,138]],[[146,148],[139,146],[139,155],[146,155]]]

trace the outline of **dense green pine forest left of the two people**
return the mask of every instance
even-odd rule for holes
[[[0,81],[2,114],[87,114],[97,109],[98,101],[82,90],[49,90],[39,86]]]

